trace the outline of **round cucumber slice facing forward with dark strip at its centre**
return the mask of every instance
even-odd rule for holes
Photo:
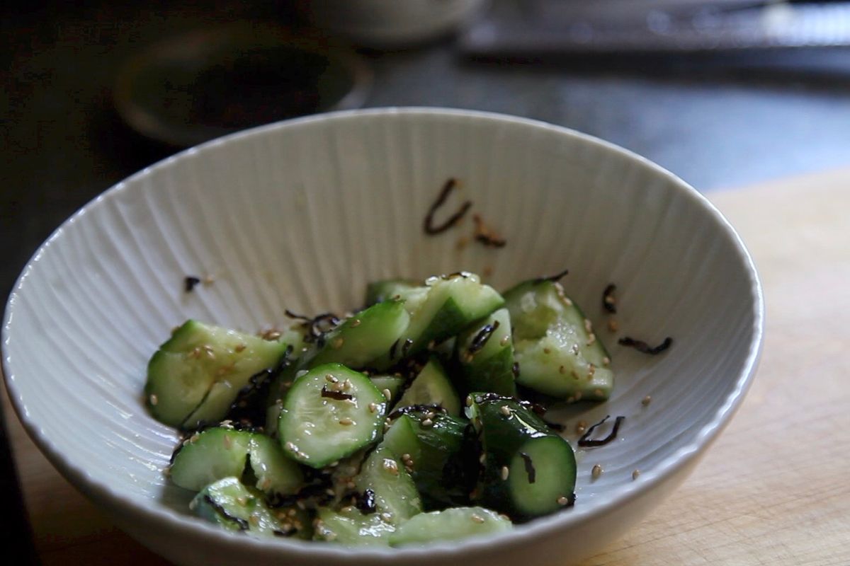
[[[371,380],[338,363],[297,378],[278,420],[278,440],[292,459],[323,468],[380,437],[387,401]]]

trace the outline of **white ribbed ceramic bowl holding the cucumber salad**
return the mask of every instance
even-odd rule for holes
[[[447,177],[507,238],[503,249],[422,233]],[[457,195],[455,197],[457,198]],[[466,269],[497,289],[560,272],[604,328],[675,339],[662,356],[615,344],[613,398],[562,417],[625,415],[619,438],[579,452],[575,507],[507,535],[425,549],[256,541],[186,509],[161,470],[177,435],[145,412],[145,364],[187,317],[243,329],[283,311],[344,311],[365,283]],[[186,275],[214,283],[185,294]],[[666,496],[747,389],[762,339],[757,274],[699,193],[609,143],[531,120],[377,109],[263,126],[189,149],[121,182],[59,227],[26,266],[3,323],[14,406],[67,479],[178,564],[569,563]],[[642,406],[651,395],[649,406]],[[605,473],[591,481],[590,468]],[[632,470],[641,471],[632,480]]]

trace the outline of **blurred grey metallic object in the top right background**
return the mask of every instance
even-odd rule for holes
[[[525,0],[462,36],[473,56],[718,53],[850,46],[850,2]]]

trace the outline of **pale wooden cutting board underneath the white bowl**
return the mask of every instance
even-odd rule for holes
[[[767,331],[757,378],[694,474],[581,566],[850,564],[850,170],[711,193],[755,258]],[[8,408],[46,566],[167,564],[41,456]]]

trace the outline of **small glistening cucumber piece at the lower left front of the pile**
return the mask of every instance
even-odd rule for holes
[[[223,478],[207,485],[189,507],[199,517],[225,529],[244,530],[257,536],[288,534],[263,502],[262,494],[242,485],[237,478]]]

